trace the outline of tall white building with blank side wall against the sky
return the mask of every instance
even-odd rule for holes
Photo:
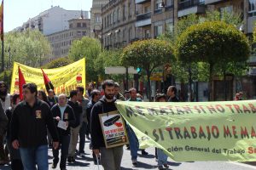
[[[15,31],[38,29],[45,36],[55,32],[65,31],[69,28],[68,20],[79,18],[81,13],[84,19],[89,19],[88,11],[66,10],[55,6],[27,20],[22,26],[16,28]]]

